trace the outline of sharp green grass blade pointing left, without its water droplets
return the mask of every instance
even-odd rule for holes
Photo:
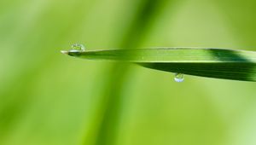
[[[90,60],[127,61],[143,67],[209,78],[256,81],[256,52],[237,49],[154,48],[62,51]]]

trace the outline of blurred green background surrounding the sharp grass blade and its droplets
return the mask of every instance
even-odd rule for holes
[[[1,145],[254,145],[255,83],[79,60],[87,49],[256,50],[253,0],[2,0]]]

